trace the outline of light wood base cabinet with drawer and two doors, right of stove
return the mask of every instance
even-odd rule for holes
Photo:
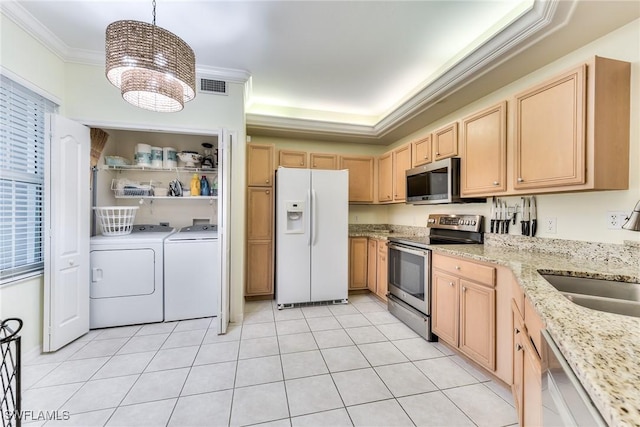
[[[432,255],[433,332],[473,361],[496,369],[495,267]]]

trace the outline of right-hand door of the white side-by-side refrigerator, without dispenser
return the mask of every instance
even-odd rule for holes
[[[349,171],[311,170],[311,301],[347,299]]]

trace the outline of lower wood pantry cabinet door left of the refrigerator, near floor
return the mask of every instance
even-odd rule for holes
[[[273,241],[247,242],[247,282],[245,295],[273,294]]]

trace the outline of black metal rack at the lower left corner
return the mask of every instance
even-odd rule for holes
[[[22,320],[18,318],[0,319],[0,418],[3,427],[20,427],[21,384],[20,384],[20,336]]]

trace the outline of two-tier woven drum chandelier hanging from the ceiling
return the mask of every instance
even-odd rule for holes
[[[106,75],[125,101],[145,110],[180,111],[195,98],[196,58],[180,37],[153,24],[116,21],[106,30]]]

